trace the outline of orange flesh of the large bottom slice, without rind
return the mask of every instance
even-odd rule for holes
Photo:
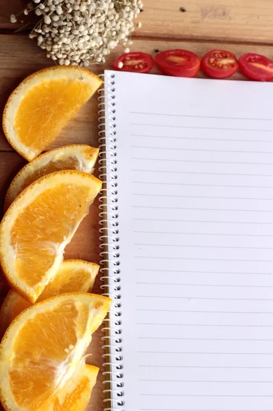
[[[67,357],[64,350],[77,343],[73,327],[77,317],[75,302],[68,301],[51,312],[36,314],[18,333],[11,364],[14,371],[9,377],[18,406],[34,411],[53,395],[57,388],[52,386],[55,374],[62,373],[60,366]],[[43,351],[47,353],[45,358]]]

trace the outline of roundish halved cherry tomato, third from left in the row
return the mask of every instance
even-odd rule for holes
[[[225,79],[237,71],[237,58],[230,51],[213,49],[203,56],[201,69],[213,79]]]

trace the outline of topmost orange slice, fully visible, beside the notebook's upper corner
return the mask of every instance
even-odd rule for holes
[[[86,69],[56,66],[27,77],[10,95],[3,131],[26,160],[39,155],[99,89],[102,80]]]

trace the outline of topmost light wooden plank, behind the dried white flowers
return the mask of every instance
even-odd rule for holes
[[[137,36],[272,43],[271,0],[143,0]],[[0,28],[16,29],[10,13],[22,10],[20,0],[0,0]],[[181,11],[182,10],[182,11]],[[137,23],[137,21],[136,21]]]

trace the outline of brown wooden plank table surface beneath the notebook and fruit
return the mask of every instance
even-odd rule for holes
[[[273,58],[273,4],[272,0],[143,0],[144,10],[132,38],[133,51],[157,51],[183,48],[202,56],[214,47],[233,51],[239,57],[247,51],[255,51]],[[39,49],[27,32],[15,32],[18,25],[10,23],[10,14],[22,10],[20,0],[0,0],[0,111],[8,95],[27,75],[53,65],[44,51]],[[116,49],[105,66],[92,66],[94,73],[112,67],[114,58],[122,51]],[[156,69],[153,70],[156,73]],[[202,74],[200,74],[202,76]],[[237,79],[243,79],[239,73]],[[229,80],[223,80],[229,81]],[[79,112],[77,118],[60,134],[51,147],[71,143],[87,143],[98,147],[97,100],[94,97]],[[25,164],[23,158],[12,150],[0,129],[0,201],[11,179]],[[65,258],[82,258],[99,263],[99,212],[98,201],[90,208],[90,214],[81,223],[75,237],[66,248]],[[99,278],[94,292],[100,292]],[[98,382],[92,393],[88,410],[102,411],[103,368],[101,330],[96,332],[90,346],[89,362],[101,368]],[[129,410],[128,410],[129,411]]]

